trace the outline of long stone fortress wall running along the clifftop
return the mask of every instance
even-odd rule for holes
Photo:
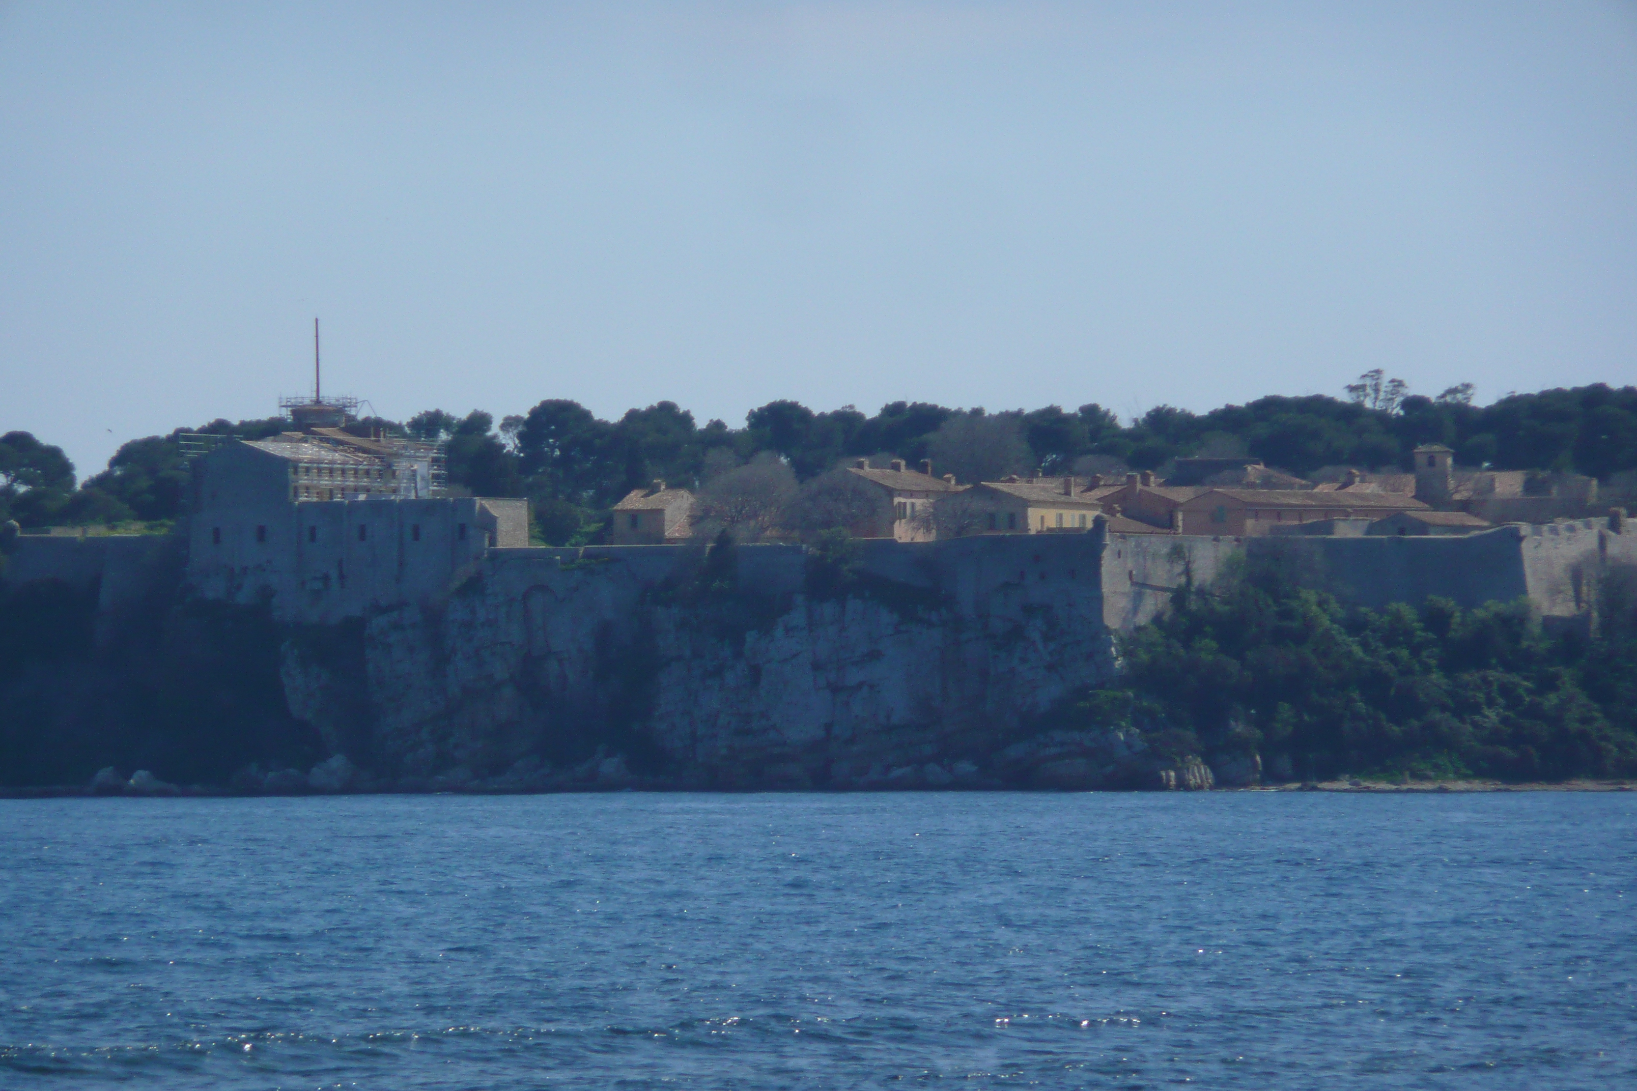
[[[524,501],[321,501],[218,509],[178,535],[21,535],[5,579],[61,579],[95,589],[108,612],[138,599],[156,572],[185,563],[203,599],[268,600],[278,620],[327,625],[440,599],[485,571],[530,572],[617,564],[634,586],[660,587],[704,556],[701,543],[527,546]],[[1463,607],[1529,599],[1544,618],[1590,618],[1596,587],[1637,568],[1637,532],[1619,515],[1511,523],[1460,537],[1206,537],[1089,533],[982,535],[946,541],[863,540],[859,571],[945,595],[953,608],[1092,610],[1112,631],[1157,617],[1185,581],[1210,584],[1238,553],[1277,556],[1341,600],[1380,608],[1429,595]],[[804,586],[799,545],[740,546],[742,590],[792,595]],[[1000,605],[1007,604],[1007,605]]]

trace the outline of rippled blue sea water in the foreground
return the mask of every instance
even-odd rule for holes
[[[0,801],[0,1086],[1637,1086],[1634,834],[1624,793]]]

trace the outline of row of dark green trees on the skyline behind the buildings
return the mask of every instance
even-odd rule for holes
[[[963,483],[1008,473],[1164,471],[1180,456],[1246,456],[1315,476],[1333,466],[1408,469],[1414,447],[1444,443],[1465,466],[1604,481],[1637,469],[1637,388],[1598,383],[1473,406],[1470,384],[1429,397],[1382,371],[1360,376],[1346,397],[1269,396],[1205,414],[1157,406],[1128,422],[1095,402],[985,412],[900,401],[868,415],[851,406],[815,412],[774,401],[732,429],[722,420],[699,425],[670,401],[602,420],[578,402],[547,399],[498,424],[488,412],[460,417],[440,409],[367,424],[444,443],[457,491],[529,497],[540,535],[553,543],[583,540],[620,496],[655,479],[701,487],[761,466],[763,478],[779,478],[787,491],[850,458],[930,458],[936,473]],[[175,519],[188,496],[183,432],[264,438],[288,427],[283,417],[213,420],[131,440],[83,483],[61,448],[10,432],[0,437],[0,519],[25,527]]]

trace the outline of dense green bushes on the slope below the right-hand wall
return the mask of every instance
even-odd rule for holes
[[[1598,640],[1552,636],[1526,604],[1346,610],[1270,564],[1184,590],[1121,640],[1123,685],[1061,710],[1195,752],[1259,746],[1301,777],[1637,774],[1637,613],[1611,587]],[[1164,741],[1164,739],[1161,739]]]

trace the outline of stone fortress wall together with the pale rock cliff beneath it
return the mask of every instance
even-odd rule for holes
[[[1090,743],[1059,741],[1067,749],[1046,761],[1028,749],[1028,725],[1112,677],[1118,633],[1185,581],[1218,579],[1238,553],[1360,605],[1526,595],[1547,618],[1583,622],[1598,582],[1637,564],[1637,535],[1617,519],[1459,538],[1110,535],[1098,523],[861,541],[856,564],[827,582],[794,545],[714,556],[699,545],[489,546],[475,530],[498,519],[488,504],[304,502],[206,514],[185,538],[23,538],[7,579],[67,579],[97,587],[106,610],[129,608],[167,571],[175,586],[187,553],[193,595],[265,602],[301,626],[282,651],[290,713],[331,752],[398,779],[527,775],[545,762],[617,785],[629,761],[701,787],[1085,787],[1130,767],[1136,751],[1108,748],[1141,741],[1112,734],[1084,754],[1074,748]]]

